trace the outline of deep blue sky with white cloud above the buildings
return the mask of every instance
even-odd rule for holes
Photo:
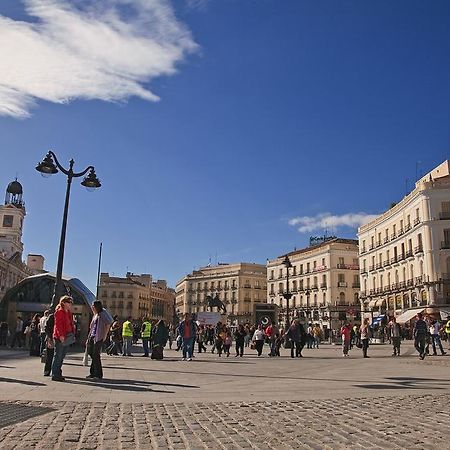
[[[446,0],[2,1],[0,180],[24,186],[25,252],[54,270],[48,149],[103,182],[74,184],[69,215],[64,269],[92,289],[100,241],[103,271],[174,285],[302,247],[324,215],[353,237],[416,162],[448,158],[448,17]]]

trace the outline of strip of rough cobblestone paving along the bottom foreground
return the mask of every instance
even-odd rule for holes
[[[0,429],[0,446],[444,450],[450,448],[449,402],[450,394],[315,402],[30,402],[30,408],[54,411]]]

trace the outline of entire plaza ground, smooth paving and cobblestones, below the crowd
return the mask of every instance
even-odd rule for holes
[[[450,356],[420,361],[411,343],[401,357],[371,346],[369,359],[330,345],[192,362],[135,350],[104,356],[102,382],[72,353],[66,383],[43,377],[39,358],[0,351],[0,447],[450,449]]]

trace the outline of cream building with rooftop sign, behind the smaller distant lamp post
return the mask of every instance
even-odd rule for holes
[[[290,320],[299,317],[319,323],[323,329],[336,329],[341,321],[359,319],[358,242],[332,238],[318,245],[287,253],[289,269]],[[286,255],[267,263],[267,299],[280,307],[285,323],[287,269]]]

